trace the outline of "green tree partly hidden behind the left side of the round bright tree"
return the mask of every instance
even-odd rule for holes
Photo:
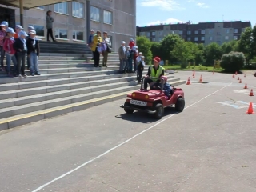
[[[178,34],[168,34],[165,38],[160,42],[160,58],[163,60],[169,60],[170,62],[175,62],[175,59],[171,57],[171,52],[174,50],[174,46],[177,42],[181,42],[182,38],[178,36]]]

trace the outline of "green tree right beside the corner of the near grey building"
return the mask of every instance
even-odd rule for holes
[[[151,46],[150,40],[144,36],[136,38],[136,46],[138,46],[138,51],[142,52],[145,57],[146,65],[150,65],[152,62]]]

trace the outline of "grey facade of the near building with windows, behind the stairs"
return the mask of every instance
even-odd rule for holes
[[[15,14],[15,24],[20,23],[18,9],[10,6],[1,8]],[[53,12],[54,36],[58,42],[87,43],[89,27],[95,31],[106,31],[114,50],[118,49],[122,40],[127,42],[136,37],[136,0],[77,0],[24,10],[24,29],[34,26],[42,40],[46,40],[47,10]],[[89,27],[86,25],[88,10]],[[0,18],[5,20],[1,14]],[[13,21],[10,24],[14,27]]]

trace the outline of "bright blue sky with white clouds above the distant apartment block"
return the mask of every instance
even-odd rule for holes
[[[137,0],[137,26],[177,22],[250,21],[256,0]]]

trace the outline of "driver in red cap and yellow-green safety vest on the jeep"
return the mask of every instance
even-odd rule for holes
[[[158,80],[154,78],[160,78],[165,74],[165,69],[160,66],[161,59],[158,57],[154,58],[154,65],[149,67],[149,70],[146,74],[146,78],[144,80],[144,89],[147,89],[147,84],[151,84],[152,82],[158,82]],[[153,84],[154,84],[153,83]]]

